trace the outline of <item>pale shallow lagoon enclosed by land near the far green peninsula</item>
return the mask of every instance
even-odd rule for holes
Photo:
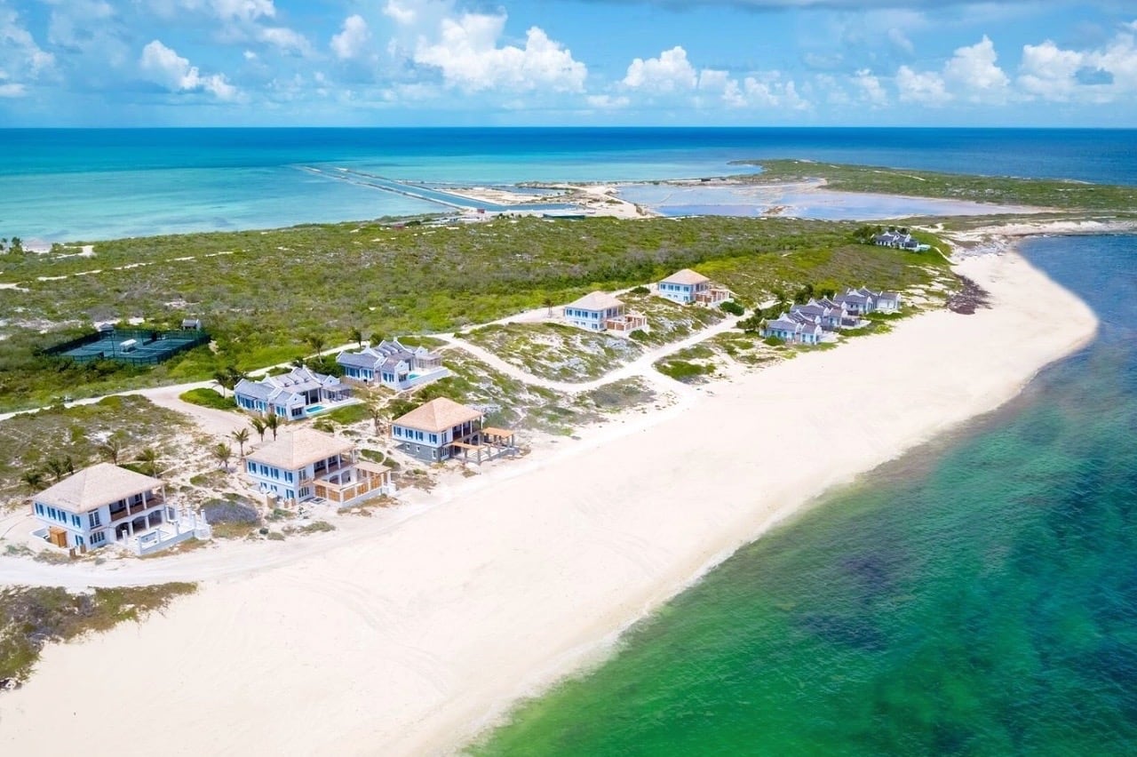
[[[779,215],[819,221],[878,221],[910,216],[984,216],[1038,213],[1037,208],[965,200],[833,192],[816,185],[628,184],[619,197],[664,216]]]

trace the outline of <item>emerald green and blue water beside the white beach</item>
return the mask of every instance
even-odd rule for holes
[[[742,549],[472,751],[1137,752],[1135,248],[1034,241],[1103,319],[1093,346]]]

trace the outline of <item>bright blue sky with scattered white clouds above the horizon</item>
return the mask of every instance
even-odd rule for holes
[[[1131,0],[0,0],[0,126],[1137,126]]]

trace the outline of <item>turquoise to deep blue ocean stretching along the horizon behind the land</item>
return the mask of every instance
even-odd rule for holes
[[[1137,131],[957,128],[0,130],[0,236],[98,240],[437,211],[306,170],[455,184],[636,181],[804,158],[1137,183]]]

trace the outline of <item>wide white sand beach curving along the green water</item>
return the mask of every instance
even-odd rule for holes
[[[49,646],[0,696],[0,751],[56,754],[70,734],[118,757],[450,754],[812,498],[998,407],[1095,332],[1013,252],[960,272],[990,309],[712,384],[459,484],[373,540]]]

